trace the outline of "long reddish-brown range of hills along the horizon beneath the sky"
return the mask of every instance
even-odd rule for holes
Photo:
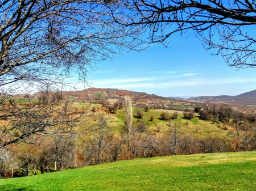
[[[19,98],[34,98],[40,97],[40,92],[35,95],[17,95]],[[114,88],[87,88],[81,91],[69,91],[63,92],[63,95],[71,96],[75,101],[96,101],[100,103],[104,99],[113,99],[114,101],[122,101],[123,96],[130,96],[133,103],[160,103],[161,101],[167,101],[172,104],[184,104],[184,105],[197,105],[201,103],[214,103],[214,104],[226,104],[232,107],[251,107],[256,108],[256,90],[245,92],[237,96],[199,96],[190,97],[188,99],[180,97],[163,97],[155,94],[146,94],[145,92],[135,92],[128,90],[118,90]],[[160,102],[159,102],[160,101]],[[247,111],[248,112],[248,111]]]

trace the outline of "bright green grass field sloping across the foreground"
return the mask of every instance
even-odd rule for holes
[[[0,180],[0,190],[256,190],[256,152],[126,160]]]

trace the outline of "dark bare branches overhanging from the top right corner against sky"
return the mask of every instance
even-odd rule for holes
[[[167,45],[173,33],[182,35],[192,30],[207,50],[216,49],[212,54],[221,54],[229,66],[256,66],[254,0],[123,0],[117,3],[123,9],[109,6],[115,22],[144,26],[151,43]],[[129,15],[129,19],[122,20],[120,14]]]

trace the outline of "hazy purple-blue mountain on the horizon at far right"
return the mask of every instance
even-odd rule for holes
[[[209,102],[217,104],[229,104],[229,105],[255,105],[256,106],[256,90],[246,92],[236,96],[199,96],[186,99],[188,101],[195,102]]]

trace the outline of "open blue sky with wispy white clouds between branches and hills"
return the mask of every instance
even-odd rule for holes
[[[192,32],[175,34],[171,40],[169,48],[154,44],[146,51],[99,63],[89,70],[90,87],[160,96],[238,95],[256,89],[256,69],[227,66],[221,56],[211,56]],[[76,82],[76,75],[68,81]],[[84,89],[81,83],[76,87]]]

